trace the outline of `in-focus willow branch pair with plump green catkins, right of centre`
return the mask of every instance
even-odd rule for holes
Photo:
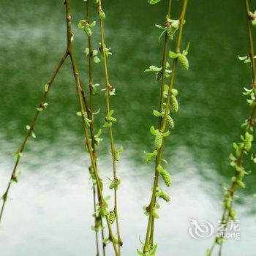
[[[157,80],[162,78],[161,89],[160,89],[160,108],[159,111],[154,110],[154,115],[159,116],[159,127],[158,129],[154,129],[151,127],[151,133],[156,136],[155,138],[155,150],[152,153],[147,153],[148,159],[146,162],[151,162],[151,159],[156,157],[155,163],[155,176],[154,176],[154,187],[152,189],[151,201],[149,205],[146,207],[146,214],[148,215],[148,226],[146,231],[146,239],[143,247],[143,253],[146,252],[154,252],[157,245],[154,244],[154,220],[158,217],[157,208],[159,207],[157,204],[157,197],[162,197],[164,200],[169,201],[169,196],[159,189],[159,175],[165,181],[165,184],[170,186],[171,179],[170,174],[162,167],[162,154],[163,154],[163,138],[169,135],[169,132],[166,131],[167,123],[171,128],[174,127],[173,119],[170,117],[170,110],[176,112],[178,110],[178,102],[176,102],[177,91],[173,89],[174,79],[176,76],[176,68],[178,61],[181,61],[184,69],[188,69],[188,61],[185,57],[187,55],[187,50],[181,53],[181,39],[183,35],[183,27],[184,27],[184,18],[187,11],[187,0],[184,0],[181,16],[179,20],[170,20],[170,7],[171,1],[168,2],[168,13],[167,13],[167,21],[165,27],[157,26],[160,29],[164,29],[165,31],[165,45],[164,45],[164,55],[162,58],[162,67],[156,68],[151,66],[146,71],[157,71]],[[170,76],[170,84],[165,88],[165,76],[168,76],[170,72],[167,72],[167,37],[169,39],[173,39],[173,34],[178,30],[178,39],[176,42],[176,53],[173,53],[171,58],[173,58],[172,71]],[[165,97],[167,98],[165,101]]]

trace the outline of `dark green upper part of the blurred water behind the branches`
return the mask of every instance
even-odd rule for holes
[[[178,18],[181,1],[174,2],[173,18]],[[144,165],[143,150],[153,148],[149,127],[157,125],[152,110],[158,108],[159,102],[159,83],[154,81],[154,75],[145,74],[143,70],[151,64],[161,65],[163,42],[157,43],[159,30],[154,24],[163,25],[165,1],[155,6],[148,5],[146,0],[105,1],[105,12],[106,42],[113,53],[108,60],[110,81],[117,95],[112,98],[118,118],[116,142],[128,148],[129,154],[127,151],[123,154],[126,161],[140,168]],[[87,40],[76,26],[83,15],[83,1],[72,1],[76,56],[80,76],[86,84],[87,62],[83,49]],[[0,150],[3,155],[10,156],[18,147],[24,127],[34,115],[43,85],[64,53],[64,18],[62,1],[1,0]],[[94,19],[97,20],[95,11]],[[96,26],[93,29],[94,48],[98,46],[98,31]],[[256,34],[255,29],[254,32]],[[250,84],[251,72],[237,58],[238,54],[245,56],[248,48],[243,1],[191,1],[184,48],[187,42],[190,42],[190,68],[188,72],[181,67],[178,69],[175,87],[179,90],[180,111],[174,117],[176,128],[166,143],[165,158],[171,162],[173,155],[178,156],[183,166],[174,163],[176,170],[172,172],[174,175],[185,172],[189,162],[186,155],[183,158],[181,148],[186,148],[197,168],[197,176],[216,187],[213,197],[217,199],[222,195],[222,182],[232,176],[228,154],[232,142],[239,140],[240,125],[250,111],[241,93],[243,87]],[[173,45],[174,42],[172,48]],[[103,89],[101,67],[101,63],[95,65],[94,83],[99,83]],[[103,94],[100,92],[95,97],[96,108],[101,108],[100,118],[104,116]],[[50,144],[50,151],[58,151],[60,146],[82,151],[83,136],[80,119],[75,116],[78,103],[69,60],[56,78],[48,103],[48,110],[42,113],[37,124],[37,140],[41,145]],[[100,124],[103,119],[97,122],[97,127]],[[104,137],[106,140],[100,152],[108,154],[108,139]],[[29,143],[29,151],[33,145],[34,142]],[[61,157],[64,156],[60,156],[59,161]],[[255,193],[255,165],[249,158],[245,165],[252,173],[245,178],[247,187],[243,193],[250,196]],[[211,178],[204,167],[215,172],[211,173]],[[151,178],[148,171],[148,179]],[[255,203],[244,208],[255,214]]]

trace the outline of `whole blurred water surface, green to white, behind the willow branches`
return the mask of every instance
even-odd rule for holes
[[[66,44],[63,1],[1,0],[0,29],[0,192],[4,192],[18,148],[53,68]],[[174,1],[178,18],[181,1]],[[94,8],[96,10],[96,8]],[[96,11],[94,10],[94,19]],[[113,98],[118,124],[116,144],[124,146],[118,172],[123,255],[135,255],[139,236],[146,231],[143,205],[149,200],[153,165],[143,163],[143,151],[150,151],[148,132],[157,120],[159,84],[143,70],[159,66],[162,43],[157,43],[165,17],[165,1],[156,6],[147,1],[105,1],[106,41],[112,48],[110,80],[116,86]],[[86,81],[86,37],[76,28],[83,18],[83,1],[72,1],[75,50],[81,78]],[[94,48],[99,27],[94,28]],[[204,255],[211,239],[189,237],[189,217],[216,224],[222,214],[222,182],[233,170],[227,159],[231,143],[241,134],[240,124],[249,115],[241,91],[250,83],[250,70],[237,55],[246,55],[246,23],[243,1],[191,1],[184,31],[184,47],[191,43],[189,72],[178,70],[180,111],[174,117],[176,129],[165,146],[173,187],[170,204],[161,203],[157,221],[158,255]],[[102,88],[101,64],[94,83]],[[96,107],[104,110],[99,93]],[[83,152],[83,135],[75,83],[69,61],[56,78],[48,98],[49,108],[39,117],[37,140],[29,140],[19,166],[20,182],[13,185],[0,233],[1,256],[95,255],[90,229],[92,193],[89,158]],[[99,114],[103,118],[104,111]],[[102,120],[102,119],[101,119]],[[97,127],[102,125],[97,122]],[[99,170],[108,187],[111,176],[108,137],[99,147]],[[249,161],[248,161],[249,162]],[[230,240],[224,255],[255,255],[256,202],[255,167],[246,177],[246,189],[236,203],[241,220],[241,240]],[[107,189],[108,190],[108,189]],[[108,191],[107,195],[111,192]],[[111,204],[110,204],[111,205]],[[110,246],[109,246],[110,247]],[[110,255],[110,254],[109,254]]]

